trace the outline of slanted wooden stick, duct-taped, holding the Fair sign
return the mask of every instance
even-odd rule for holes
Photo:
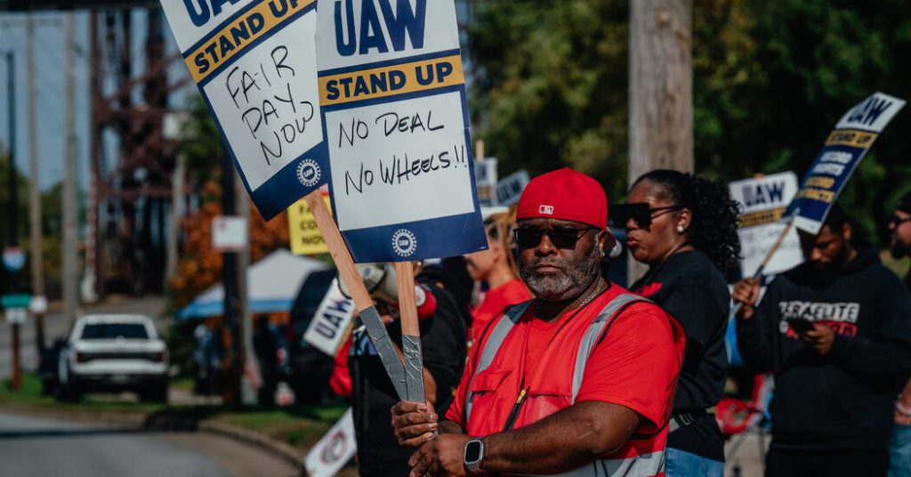
[[[383,320],[380,318],[379,312],[376,311],[376,306],[374,306],[374,299],[370,297],[367,287],[363,285],[361,274],[358,273],[357,267],[354,266],[348,247],[342,239],[342,233],[339,232],[339,228],[333,220],[333,214],[326,207],[326,202],[323,202],[322,194],[319,190],[310,192],[304,196],[304,200],[310,206],[313,220],[316,221],[316,225],[320,228],[322,239],[326,242],[326,246],[329,247],[329,253],[333,255],[333,261],[339,270],[339,276],[344,284],[348,286],[354,306],[361,313],[361,321],[363,321],[363,326],[367,330],[367,336],[370,337],[370,341],[374,344],[376,354],[383,361],[386,373],[389,374],[389,378],[393,381],[396,394],[398,394],[399,399],[407,399],[408,392],[402,360],[395,352],[392,339],[386,333]],[[412,281],[414,283],[414,278]],[[414,296],[414,285],[412,285],[411,290],[412,296]],[[414,306],[414,297],[412,297],[412,306]],[[422,397],[418,399],[418,402],[424,402],[423,391]]]

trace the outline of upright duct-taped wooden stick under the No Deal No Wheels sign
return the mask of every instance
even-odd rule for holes
[[[421,358],[421,328],[417,324],[415,305],[415,265],[411,262],[395,262],[395,276],[398,281],[399,313],[402,316],[405,389],[408,400],[424,402],[424,359]]]

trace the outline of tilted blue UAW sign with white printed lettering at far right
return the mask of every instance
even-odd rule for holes
[[[844,114],[788,206],[785,216],[796,214],[795,227],[806,233],[819,233],[866,151],[904,106],[904,99],[877,92]]]

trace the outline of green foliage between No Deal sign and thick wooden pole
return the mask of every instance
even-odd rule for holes
[[[487,2],[471,35],[482,67],[476,136],[502,171],[571,166],[611,191],[627,161],[628,6],[619,0]],[[614,195],[613,197],[616,197]]]

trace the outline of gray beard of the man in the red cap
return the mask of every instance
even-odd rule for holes
[[[571,301],[582,296],[601,273],[601,254],[599,247],[591,247],[591,252],[577,263],[558,257],[534,257],[528,263],[519,263],[519,275],[539,300],[548,302]],[[537,275],[536,264],[552,264],[563,271],[560,275]]]

